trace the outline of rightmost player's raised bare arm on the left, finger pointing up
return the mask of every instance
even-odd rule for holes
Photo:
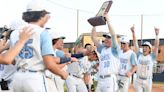
[[[134,25],[130,28],[130,30],[132,32],[132,37],[133,37],[134,51],[135,51],[135,53],[137,53],[139,51],[139,46],[138,46],[138,42],[137,42],[136,35],[135,35]]]

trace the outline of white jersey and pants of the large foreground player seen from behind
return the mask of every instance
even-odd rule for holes
[[[45,65],[42,56],[53,55],[52,41],[48,31],[37,25],[30,24],[34,34],[26,42],[19,55],[15,58],[18,72],[13,77],[14,92],[48,92],[44,76]],[[19,32],[15,30],[10,36],[10,45],[19,40]]]

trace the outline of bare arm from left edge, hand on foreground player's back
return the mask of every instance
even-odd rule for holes
[[[0,54],[0,63],[1,64],[11,64],[13,62],[14,58],[16,57],[16,55],[19,54],[19,52],[23,48],[23,46],[26,43],[26,41],[32,35],[31,30],[32,30],[31,27],[24,27],[22,29],[22,32],[20,32],[20,36],[19,36],[20,39],[17,41],[17,43],[15,43],[13,45],[13,47],[10,48],[5,53],[1,53]],[[3,40],[0,40],[0,41],[2,42]],[[7,41],[4,41],[4,42],[5,42],[4,46],[7,46],[7,44],[8,44],[8,43],[6,43]],[[6,47],[1,48],[1,52],[3,50],[6,50]]]

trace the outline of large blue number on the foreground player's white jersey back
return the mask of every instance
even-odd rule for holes
[[[19,53],[19,56],[23,59],[30,59],[33,57],[33,48],[29,47],[28,45],[32,43],[32,39],[29,39],[26,44],[24,45],[23,49]]]

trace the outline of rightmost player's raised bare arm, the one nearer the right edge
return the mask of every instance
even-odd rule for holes
[[[154,49],[153,49],[153,52],[155,53],[155,55],[157,56],[158,54],[158,48],[159,48],[159,38],[158,38],[158,35],[159,35],[159,28],[157,27],[154,27],[154,31],[155,31],[155,35],[156,35],[156,39],[155,39],[155,42],[154,42]]]

